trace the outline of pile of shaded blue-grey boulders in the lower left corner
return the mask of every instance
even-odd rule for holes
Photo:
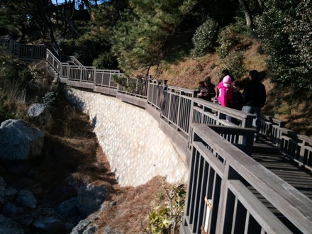
[[[94,225],[84,226],[82,223],[87,221],[85,218],[91,213],[101,209],[102,203],[109,196],[106,186],[92,183],[77,186],[76,196],[60,201],[54,207],[43,201],[40,203],[40,196],[45,193],[43,189],[26,189],[26,184],[36,188],[34,176],[38,172],[30,165],[33,162],[40,165],[45,158],[40,157],[43,155],[44,137],[42,130],[25,121],[10,119],[1,123],[0,234],[65,234],[79,233],[82,229],[84,233],[94,233]],[[72,188],[70,183],[65,186]],[[68,188],[63,187],[64,191]]]

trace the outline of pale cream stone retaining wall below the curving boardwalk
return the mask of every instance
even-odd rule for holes
[[[65,93],[72,104],[89,115],[118,184],[138,186],[157,175],[167,177],[169,183],[186,182],[185,156],[143,108],[69,87]]]

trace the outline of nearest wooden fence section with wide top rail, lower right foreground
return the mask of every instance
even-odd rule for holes
[[[307,196],[228,143],[218,130],[199,123],[191,128],[181,233],[311,233]]]

